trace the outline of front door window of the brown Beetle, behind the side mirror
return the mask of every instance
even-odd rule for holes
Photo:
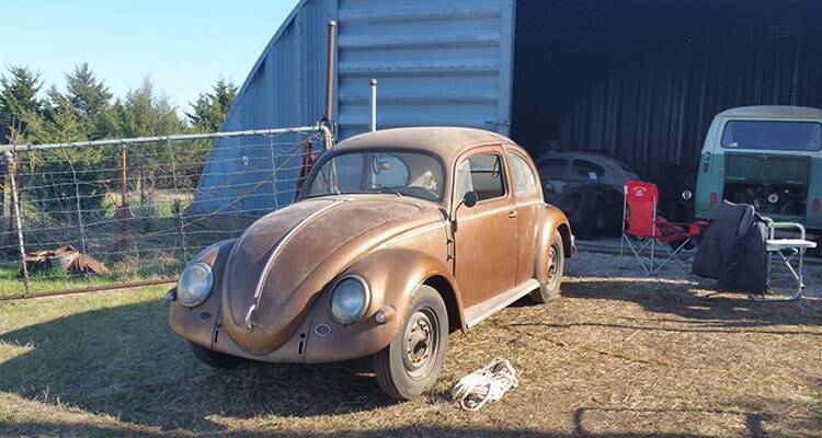
[[[457,169],[455,198],[476,192],[478,200],[505,196],[505,173],[502,157],[496,153],[480,153],[464,161]]]

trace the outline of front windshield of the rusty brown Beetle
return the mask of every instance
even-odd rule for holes
[[[437,159],[421,152],[358,151],[326,162],[308,185],[308,197],[390,193],[426,200],[443,198],[444,172]]]

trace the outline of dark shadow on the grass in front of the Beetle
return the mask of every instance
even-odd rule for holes
[[[171,333],[165,306],[106,308],[0,335],[22,351],[0,364],[0,391],[163,428],[208,429],[209,414],[302,417],[395,403],[363,361],[212,369]]]

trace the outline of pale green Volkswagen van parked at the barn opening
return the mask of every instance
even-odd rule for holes
[[[683,196],[687,196],[684,194]],[[822,110],[745,106],[713,118],[697,171],[696,217],[722,199],[822,231]]]

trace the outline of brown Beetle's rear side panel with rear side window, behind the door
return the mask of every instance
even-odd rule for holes
[[[511,188],[514,196],[517,228],[516,280],[521,285],[534,278],[539,215],[545,208],[537,189],[538,178],[530,160],[516,150],[507,149]]]

